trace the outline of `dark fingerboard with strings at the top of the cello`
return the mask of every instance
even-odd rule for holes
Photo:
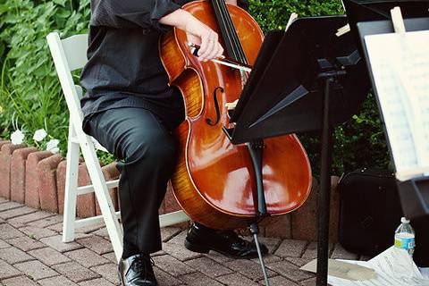
[[[237,35],[231,15],[225,4],[225,0],[211,0],[216,21],[221,31],[223,44],[228,58],[238,63],[248,64],[243,47],[240,44],[240,38]]]

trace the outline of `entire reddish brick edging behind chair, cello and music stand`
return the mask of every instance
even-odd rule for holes
[[[116,163],[102,167],[106,180],[119,177]],[[63,156],[48,151],[38,151],[35,147],[25,144],[12,145],[10,141],[0,139],[0,197],[12,199],[27,206],[41,208],[53,213],[63,214],[65,175],[67,162]],[[79,167],[79,185],[90,182],[85,163]],[[331,224],[330,240],[338,240],[339,195],[336,191],[338,177],[332,177],[331,191]],[[13,186],[11,185],[13,183]],[[261,234],[296,240],[316,240],[317,215],[316,201],[318,184],[313,180],[313,187],[306,203],[290,214],[275,218],[261,226]],[[117,189],[109,190],[116,210],[119,209]],[[160,214],[177,211],[180,206],[172,194],[169,183]],[[80,196],[76,214],[89,217],[100,214],[94,194]]]

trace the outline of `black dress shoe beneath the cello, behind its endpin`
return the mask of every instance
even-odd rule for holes
[[[268,248],[260,244],[263,255]],[[234,231],[216,231],[199,223],[193,223],[185,239],[185,248],[199,253],[208,253],[214,250],[226,257],[256,258],[257,246],[254,241],[242,240]]]

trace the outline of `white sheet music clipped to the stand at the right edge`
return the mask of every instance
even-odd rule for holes
[[[429,172],[429,30],[365,37],[397,178]]]

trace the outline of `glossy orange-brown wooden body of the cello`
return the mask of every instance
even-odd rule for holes
[[[262,30],[240,7],[227,7],[252,65],[264,38]],[[220,35],[209,3],[191,2],[183,9]],[[186,120],[175,130],[180,154],[172,176],[174,196],[198,223],[214,229],[247,227],[257,214],[255,171],[248,147],[233,145],[222,130],[231,127],[224,106],[240,97],[240,71],[199,62],[181,29],[174,28],[160,39],[159,52],[170,84],[181,90],[186,111]],[[264,143],[267,211],[271,215],[290,213],[305,202],[311,189],[306,151],[295,135],[264,139]]]

